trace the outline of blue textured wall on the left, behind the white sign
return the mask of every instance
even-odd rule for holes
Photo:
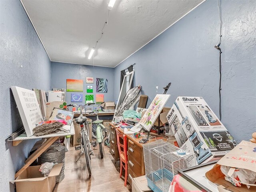
[[[19,0],[0,0],[0,81],[0,191],[8,192],[35,142],[6,141],[22,127],[10,87],[50,89],[50,60]]]

